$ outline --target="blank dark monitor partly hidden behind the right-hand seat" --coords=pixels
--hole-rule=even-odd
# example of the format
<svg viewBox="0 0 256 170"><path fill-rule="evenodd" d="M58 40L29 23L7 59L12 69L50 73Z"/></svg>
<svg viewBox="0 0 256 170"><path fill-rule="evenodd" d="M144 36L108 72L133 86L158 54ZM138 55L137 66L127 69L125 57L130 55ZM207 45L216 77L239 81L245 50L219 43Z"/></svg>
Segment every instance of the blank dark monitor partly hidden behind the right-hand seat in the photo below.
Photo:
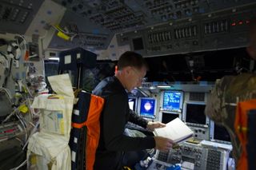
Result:
<svg viewBox="0 0 256 170"><path fill-rule="evenodd" d="M227 132L224 126L214 123L214 140L230 142L230 133Z"/></svg>

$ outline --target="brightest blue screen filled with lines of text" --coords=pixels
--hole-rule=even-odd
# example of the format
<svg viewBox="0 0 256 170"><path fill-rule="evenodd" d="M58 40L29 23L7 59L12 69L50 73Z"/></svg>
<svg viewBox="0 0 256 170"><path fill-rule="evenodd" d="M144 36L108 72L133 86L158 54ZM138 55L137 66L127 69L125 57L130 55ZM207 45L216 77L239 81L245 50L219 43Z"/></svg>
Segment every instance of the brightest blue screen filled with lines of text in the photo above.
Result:
<svg viewBox="0 0 256 170"><path fill-rule="evenodd" d="M162 109L173 111L173 112L182 112L181 110L181 101L182 93L181 92L164 92Z"/></svg>

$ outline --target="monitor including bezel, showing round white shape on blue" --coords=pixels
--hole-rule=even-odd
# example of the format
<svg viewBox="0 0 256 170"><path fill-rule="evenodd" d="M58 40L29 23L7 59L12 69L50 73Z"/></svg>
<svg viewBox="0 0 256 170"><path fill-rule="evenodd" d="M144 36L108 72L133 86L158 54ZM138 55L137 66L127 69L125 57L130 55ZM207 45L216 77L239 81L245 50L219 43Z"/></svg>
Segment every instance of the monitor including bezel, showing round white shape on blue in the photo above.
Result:
<svg viewBox="0 0 256 170"><path fill-rule="evenodd" d="M138 113L141 117L155 118L157 104L155 98L142 97L138 102Z"/></svg>

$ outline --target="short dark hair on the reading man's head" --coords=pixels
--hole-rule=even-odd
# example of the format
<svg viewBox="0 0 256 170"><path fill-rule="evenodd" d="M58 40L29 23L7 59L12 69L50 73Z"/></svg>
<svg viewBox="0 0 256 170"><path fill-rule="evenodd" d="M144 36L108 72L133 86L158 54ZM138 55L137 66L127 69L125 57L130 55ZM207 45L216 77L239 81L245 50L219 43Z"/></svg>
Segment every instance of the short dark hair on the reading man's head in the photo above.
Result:
<svg viewBox="0 0 256 170"><path fill-rule="evenodd" d="M126 51L119 57L118 69L121 70L127 66L132 66L137 69L142 69L142 67L148 69L146 60L142 57L142 55L133 51Z"/></svg>

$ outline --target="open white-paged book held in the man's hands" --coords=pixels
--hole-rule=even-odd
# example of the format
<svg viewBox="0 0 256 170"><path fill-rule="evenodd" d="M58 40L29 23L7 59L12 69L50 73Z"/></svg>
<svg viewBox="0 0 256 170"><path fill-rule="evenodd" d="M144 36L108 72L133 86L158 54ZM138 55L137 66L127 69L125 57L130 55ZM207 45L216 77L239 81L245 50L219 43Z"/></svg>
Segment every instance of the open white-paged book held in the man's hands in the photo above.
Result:
<svg viewBox="0 0 256 170"><path fill-rule="evenodd" d="M169 138L174 143L179 143L193 136L193 131L179 118L166 124L164 128L155 128L154 136Z"/></svg>

